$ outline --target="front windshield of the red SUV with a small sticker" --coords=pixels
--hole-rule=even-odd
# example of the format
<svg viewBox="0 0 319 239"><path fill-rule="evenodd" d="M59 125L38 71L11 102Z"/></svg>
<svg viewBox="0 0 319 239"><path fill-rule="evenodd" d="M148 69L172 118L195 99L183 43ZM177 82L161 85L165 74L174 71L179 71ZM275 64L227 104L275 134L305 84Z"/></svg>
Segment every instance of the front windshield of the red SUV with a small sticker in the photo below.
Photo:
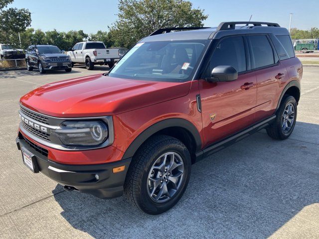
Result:
<svg viewBox="0 0 319 239"><path fill-rule="evenodd" d="M111 77L184 82L191 79L209 40L136 44L113 67Z"/></svg>

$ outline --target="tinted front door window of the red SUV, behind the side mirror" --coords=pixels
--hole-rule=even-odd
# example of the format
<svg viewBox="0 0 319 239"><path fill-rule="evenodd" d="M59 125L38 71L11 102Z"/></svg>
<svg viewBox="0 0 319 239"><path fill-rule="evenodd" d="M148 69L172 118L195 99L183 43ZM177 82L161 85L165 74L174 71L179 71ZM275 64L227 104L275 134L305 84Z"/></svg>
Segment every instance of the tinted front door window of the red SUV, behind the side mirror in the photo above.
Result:
<svg viewBox="0 0 319 239"><path fill-rule="evenodd" d="M210 60L210 69L216 66L232 66L237 72L246 71L243 37L227 37L218 43Z"/></svg>

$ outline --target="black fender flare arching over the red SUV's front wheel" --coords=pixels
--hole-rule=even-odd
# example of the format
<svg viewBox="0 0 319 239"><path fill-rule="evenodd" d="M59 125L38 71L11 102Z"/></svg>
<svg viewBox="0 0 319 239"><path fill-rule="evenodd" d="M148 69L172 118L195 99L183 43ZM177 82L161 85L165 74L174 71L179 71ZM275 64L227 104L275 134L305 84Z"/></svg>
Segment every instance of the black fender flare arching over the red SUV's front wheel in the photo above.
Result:
<svg viewBox="0 0 319 239"><path fill-rule="evenodd" d="M194 124L192 124L190 121L186 119L181 118L173 118L173 119L164 119L161 120L147 129L145 129L142 133L140 133L130 144L130 146L125 151L122 159L133 157L136 151L139 149L139 147L153 134L156 132L168 128L168 127L181 127L186 129L194 138L196 143L196 152L200 150L201 148L201 138L200 134L195 127Z"/></svg>

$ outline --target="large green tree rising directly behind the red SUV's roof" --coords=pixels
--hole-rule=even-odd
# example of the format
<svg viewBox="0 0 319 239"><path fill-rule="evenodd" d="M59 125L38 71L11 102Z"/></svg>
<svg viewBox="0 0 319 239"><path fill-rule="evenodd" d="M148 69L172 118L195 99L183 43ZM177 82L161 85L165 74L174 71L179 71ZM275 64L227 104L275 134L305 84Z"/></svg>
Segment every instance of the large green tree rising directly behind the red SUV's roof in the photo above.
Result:
<svg viewBox="0 0 319 239"><path fill-rule="evenodd" d="M159 28L203 26L206 18L186 0L120 0L109 34L115 46L129 48Z"/></svg>

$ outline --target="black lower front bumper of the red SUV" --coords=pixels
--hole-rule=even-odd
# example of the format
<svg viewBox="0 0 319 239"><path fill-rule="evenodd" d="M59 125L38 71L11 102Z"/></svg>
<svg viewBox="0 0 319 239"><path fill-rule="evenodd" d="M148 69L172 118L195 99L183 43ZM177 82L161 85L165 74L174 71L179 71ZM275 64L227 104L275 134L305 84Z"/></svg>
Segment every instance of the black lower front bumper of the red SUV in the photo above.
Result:
<svg viewBox="0 0 319 239"><path fill-rule="evenodd" d="M34 154L38 170L47 177L65 186L65 189L75 189L92 194L103 199L123 195L125 177L131 163L131 158L105 164L70 165L53 162L45 156L45 151L20 133L16 138L20 150L22 147ZM113 173L113 168L125 165L125 170ZM99 179L96 179L98 175Z"/></svg>

